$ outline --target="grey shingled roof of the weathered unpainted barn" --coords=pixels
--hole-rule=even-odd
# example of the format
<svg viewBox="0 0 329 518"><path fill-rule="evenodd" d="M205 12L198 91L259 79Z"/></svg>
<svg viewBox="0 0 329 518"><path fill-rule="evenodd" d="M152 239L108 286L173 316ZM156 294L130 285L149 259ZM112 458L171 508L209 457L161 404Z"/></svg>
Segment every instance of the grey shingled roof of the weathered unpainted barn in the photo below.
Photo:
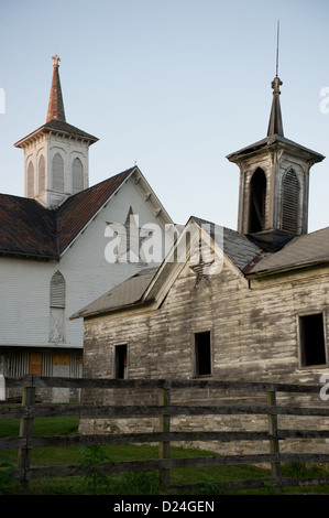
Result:
<svg viewBox="0 0 329 518"><path fill-rule="evenodd" d="M221 239L222 236L221 242L217 244L245 277L329 262L329 227L296 237L279 251L267 252L241 233L226 227L222 233L216 233L216 225L210 222L197 217L191 217L190 220L204 229L209 225L209 234L215 239L218 236ZM158 268L145 268L83 307L72 319L122 311L145 303L143 296L157 271Z"/></svg>

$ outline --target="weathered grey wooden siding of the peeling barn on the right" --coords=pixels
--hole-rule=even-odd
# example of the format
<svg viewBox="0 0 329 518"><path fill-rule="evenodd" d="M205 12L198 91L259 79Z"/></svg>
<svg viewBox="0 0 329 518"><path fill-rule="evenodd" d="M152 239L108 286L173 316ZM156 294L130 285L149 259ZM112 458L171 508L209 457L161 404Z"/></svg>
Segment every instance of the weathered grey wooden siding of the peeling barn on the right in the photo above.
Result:
<svg viewBox="0 0 329 518"><path fill-rule="evenodd" d="M318 384L323 368L299 366L297 321L299 314L323 312L328 335L328 289L327 269L294 273L262 281L249 282L226 261L218 276L210 276L208 283L196 277L186 266L172 285L158 309L144 309L108 314L85 321L86 377L113 377L113 348L128 345L128 376L130 378L179 378L194 376L193 334L211 331L212 376L216 379L309 382ZM120 403L122 400L145 404L156 402L157 395L145 393L138 398L132 393L94 392L86 395L86 401ZM250 402L251 395L226 393L224 401L239 398ZM254 397L254 396L253 396ZM281 397L283 402L295 402L294 397ZM173 402L194 404L216 403L218 393L196 391L177 392ZM259 401L265 403L265 400ZM300 399L297 404L301 404ZM315 396L314 404L319 404ZM198 418L175 419L173 427L193 430L253 429L260 423L253 419L242 422L239 417L200 420ZM327 425L322 420L322 425ZM157 421L145 425L157 425ZM85 423L86 425L86 423ZM141 423L107 420L102 425L108 431L138 430ZM266 429L264 419L261 425ZM300 428L312 428L304 420ZM135 427L135 428L134 428ZM81 425L81 430L84 424ZM295 441L296 442L296 441ZM286 445L288 442L286 442ZM300 444L295 444L300 450ZM207 444L207 447L211 447ZM217 447L217 446L212 446ZM229 451L231 445L221 445ZM267 446L264 446L265 451ZM239 451L248 451L239 445ZM262 450L262 445L260 445Z"/></svg>

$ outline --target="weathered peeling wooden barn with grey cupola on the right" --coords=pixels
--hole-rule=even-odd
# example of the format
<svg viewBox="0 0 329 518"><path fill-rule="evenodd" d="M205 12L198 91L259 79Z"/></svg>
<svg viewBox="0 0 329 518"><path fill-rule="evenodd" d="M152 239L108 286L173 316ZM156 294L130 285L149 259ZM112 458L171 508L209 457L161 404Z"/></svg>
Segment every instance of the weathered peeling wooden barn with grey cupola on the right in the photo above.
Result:
<svg viewBox="0 0 329 518"><path fill-rule="evenodd" d="M238 230L191 217L160 268L73 315L85 322L86 377L319 382L329 367L329 227L308 234L307 217L309 171L323 157L284 137L281 85L275 77L266 137L228 155L240 168Z"/></svg>

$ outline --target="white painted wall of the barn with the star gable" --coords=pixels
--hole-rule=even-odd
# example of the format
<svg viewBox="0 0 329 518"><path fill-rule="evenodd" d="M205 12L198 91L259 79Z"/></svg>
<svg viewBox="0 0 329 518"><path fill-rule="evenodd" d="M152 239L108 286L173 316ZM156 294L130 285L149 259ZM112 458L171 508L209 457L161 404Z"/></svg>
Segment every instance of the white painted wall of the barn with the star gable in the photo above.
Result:
<svg viewBox="0 0 329 518"><path fill-rule="evenodd" d="M0 346L56 346L50 342L50 285L59 270L66 281L66 339L58 347L83 347L83 320L69 321L69 316L142 268L136 263L110 265L105 257L110 240L105 236L107 223L124 224L130 207L139 215L140 225L164 227L134 180L129 179L59 262L0 258Z"/></svg>

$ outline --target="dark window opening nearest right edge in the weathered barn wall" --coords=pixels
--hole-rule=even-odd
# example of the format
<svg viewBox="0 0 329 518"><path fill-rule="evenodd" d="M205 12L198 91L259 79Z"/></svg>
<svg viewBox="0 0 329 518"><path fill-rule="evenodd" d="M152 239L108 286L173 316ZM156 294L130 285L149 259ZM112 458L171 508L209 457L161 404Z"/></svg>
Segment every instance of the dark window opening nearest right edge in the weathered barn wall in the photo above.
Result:
<svg viewBox="0 0 329 518"><path fill-rule="evenodd" d="M326 365L323 315L318 313L299 317L301 366Z"/></svg>

